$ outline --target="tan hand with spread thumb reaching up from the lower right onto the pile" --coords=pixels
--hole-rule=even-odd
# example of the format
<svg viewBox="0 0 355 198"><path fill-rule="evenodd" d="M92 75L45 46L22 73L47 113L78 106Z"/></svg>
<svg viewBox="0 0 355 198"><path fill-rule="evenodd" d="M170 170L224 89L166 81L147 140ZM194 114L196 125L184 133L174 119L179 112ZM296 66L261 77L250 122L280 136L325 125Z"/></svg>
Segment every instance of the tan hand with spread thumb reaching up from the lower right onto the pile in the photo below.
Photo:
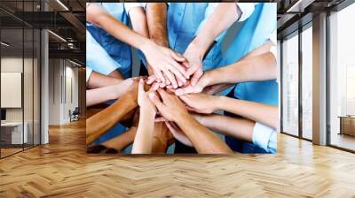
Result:
<svg viewBox="0 0 355 198"><path fill-rule="evenodd" d="M158 93L159 95L156 92L150 93L149 98L164 118L177 122L180 118L190 116L185 108L185 104L178 99L177 95L168 93L163 89L158 89ZM159 96L162 98L162 101Z"/></svg>

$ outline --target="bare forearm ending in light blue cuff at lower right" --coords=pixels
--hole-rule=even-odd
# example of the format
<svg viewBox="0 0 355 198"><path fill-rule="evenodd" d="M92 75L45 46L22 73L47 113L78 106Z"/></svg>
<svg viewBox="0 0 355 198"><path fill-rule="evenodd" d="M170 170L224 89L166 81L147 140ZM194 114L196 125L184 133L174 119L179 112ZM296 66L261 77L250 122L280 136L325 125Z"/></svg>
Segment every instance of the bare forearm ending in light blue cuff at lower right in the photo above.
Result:
<svg viewBox="0 0 355 198"><path fill-rule="evenodd" d="M255 122L246 118L232 118L220 114L199 115L199 122L210 129L243 141L253 141Z"/></svg>

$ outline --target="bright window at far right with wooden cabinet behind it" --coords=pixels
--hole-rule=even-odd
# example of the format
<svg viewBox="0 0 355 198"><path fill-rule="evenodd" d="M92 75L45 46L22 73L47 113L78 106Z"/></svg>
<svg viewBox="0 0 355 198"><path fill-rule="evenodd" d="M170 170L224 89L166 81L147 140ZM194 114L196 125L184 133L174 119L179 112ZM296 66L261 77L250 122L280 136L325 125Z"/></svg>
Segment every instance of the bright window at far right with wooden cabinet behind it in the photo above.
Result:
<svg viewBox="0 0 355 198"><path fill-rule="evenodd" d="M329 16L329 142L355 150L355 4Z"/></svg>

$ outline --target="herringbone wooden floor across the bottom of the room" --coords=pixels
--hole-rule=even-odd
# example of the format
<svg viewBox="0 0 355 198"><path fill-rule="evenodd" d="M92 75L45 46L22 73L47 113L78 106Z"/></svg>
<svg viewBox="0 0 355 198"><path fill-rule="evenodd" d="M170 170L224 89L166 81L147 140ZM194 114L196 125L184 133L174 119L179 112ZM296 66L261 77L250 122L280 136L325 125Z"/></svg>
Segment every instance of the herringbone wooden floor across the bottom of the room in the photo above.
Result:
<svg viewBox="0 0 355 198"><path fill-rule="evenodd" d="M355 197L355 155L279 136L277 155L87 155L83 122L0 160L0 197Z"/></svg>

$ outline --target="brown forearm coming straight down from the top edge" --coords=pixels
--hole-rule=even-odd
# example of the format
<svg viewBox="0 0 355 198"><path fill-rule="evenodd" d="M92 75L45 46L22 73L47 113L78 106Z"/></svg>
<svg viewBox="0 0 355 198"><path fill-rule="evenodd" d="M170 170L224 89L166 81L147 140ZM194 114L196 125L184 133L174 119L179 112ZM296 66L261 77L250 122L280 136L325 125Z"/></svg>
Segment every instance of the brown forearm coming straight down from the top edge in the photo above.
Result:
<svg viewBox="0 0 355 198"><path fill-rule="evenodd" d="M169 47L167 33L167 4L146 4L146 21L148 24L150 39L158 45Z"/></svg>

